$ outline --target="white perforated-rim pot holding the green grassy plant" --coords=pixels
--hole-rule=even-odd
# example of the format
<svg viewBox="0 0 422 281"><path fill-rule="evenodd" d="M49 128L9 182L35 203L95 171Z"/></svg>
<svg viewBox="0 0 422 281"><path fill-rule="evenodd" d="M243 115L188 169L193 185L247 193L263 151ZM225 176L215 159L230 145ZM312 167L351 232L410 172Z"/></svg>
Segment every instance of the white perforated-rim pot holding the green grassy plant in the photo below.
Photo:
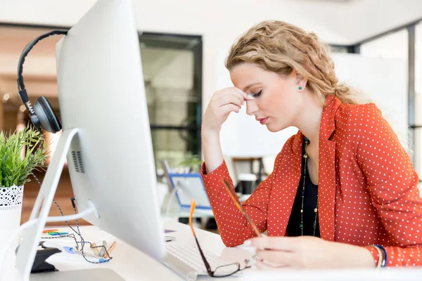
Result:
<svg viewBox="0 0 422 281"><path fill-rule="evenodd" d="M23 186L0 187L0 253L8 247L7 242L20 226L22 214ZM15 251L18 237L8 247L8 251Z"/></svg>

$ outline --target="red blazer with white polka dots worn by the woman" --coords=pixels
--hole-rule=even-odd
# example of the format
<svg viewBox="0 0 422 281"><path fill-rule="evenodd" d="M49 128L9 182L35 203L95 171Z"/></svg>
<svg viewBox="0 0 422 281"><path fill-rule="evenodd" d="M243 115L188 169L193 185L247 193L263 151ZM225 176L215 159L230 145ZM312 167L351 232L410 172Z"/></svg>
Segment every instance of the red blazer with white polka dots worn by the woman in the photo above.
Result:
<svg viewBox="0 0 422 281"><path fill-rule="evenodd" d="M286 235L300 181L303 135L290 137L271 175L243 203L261 232ZM376 105L343 104L328 96L319 131L321 238L357 246L381 244L388 266L422 266L422 199L407 152ZM225 162L205 174L205 190L227 247L255 233L222 185L231 182ZM374 259L377 253L367 247Z"/></svg>

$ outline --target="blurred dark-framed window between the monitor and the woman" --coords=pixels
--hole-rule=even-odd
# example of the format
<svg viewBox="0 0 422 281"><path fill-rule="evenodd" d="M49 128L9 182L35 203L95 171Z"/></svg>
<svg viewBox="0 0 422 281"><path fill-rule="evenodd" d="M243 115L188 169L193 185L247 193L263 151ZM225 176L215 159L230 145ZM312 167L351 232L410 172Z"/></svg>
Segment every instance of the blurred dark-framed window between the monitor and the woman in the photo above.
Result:
<svg viewBox="0 0 422 281"><path fill-rule="evenodd" d="M200 157L202 39L143 33L139 37L155 166Z"/></svg>

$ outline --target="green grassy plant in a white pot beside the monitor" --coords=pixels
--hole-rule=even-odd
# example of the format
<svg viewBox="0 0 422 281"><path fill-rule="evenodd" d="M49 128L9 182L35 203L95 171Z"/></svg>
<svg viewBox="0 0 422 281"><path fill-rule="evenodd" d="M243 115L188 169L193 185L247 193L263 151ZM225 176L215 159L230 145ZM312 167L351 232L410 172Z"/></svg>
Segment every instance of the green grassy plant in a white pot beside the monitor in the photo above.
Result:
<svg viewBox="0 0 422 281"><path fill-rule="evenodd" d="M8 135L0 133L0 241L4 247L20 226L23 186L32 171L44 168L48 157L41 141L41 133L29 126Z"/></svg>

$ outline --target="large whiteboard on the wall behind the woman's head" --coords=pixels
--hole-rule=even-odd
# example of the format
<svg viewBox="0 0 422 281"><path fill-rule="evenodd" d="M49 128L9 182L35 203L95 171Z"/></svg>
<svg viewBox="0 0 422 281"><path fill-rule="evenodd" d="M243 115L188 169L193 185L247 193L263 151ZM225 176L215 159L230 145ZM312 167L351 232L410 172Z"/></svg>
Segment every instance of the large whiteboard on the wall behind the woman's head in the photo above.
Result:
<svg viewBox="0 0 422 281"><path fill-rule="evenodd" d="M226 53L217 55L216 91L233 84L224 67ZM407 63L401 59L366 58L349 53L333 53L335 71L340 81L362 89L383 111L396 133L407 136ZM284 143L297 133L289 127L272 133L255 117L246 114L245 106L239 113L232 112L224 122L220 141L224 156L275 156Z"/></svg>

